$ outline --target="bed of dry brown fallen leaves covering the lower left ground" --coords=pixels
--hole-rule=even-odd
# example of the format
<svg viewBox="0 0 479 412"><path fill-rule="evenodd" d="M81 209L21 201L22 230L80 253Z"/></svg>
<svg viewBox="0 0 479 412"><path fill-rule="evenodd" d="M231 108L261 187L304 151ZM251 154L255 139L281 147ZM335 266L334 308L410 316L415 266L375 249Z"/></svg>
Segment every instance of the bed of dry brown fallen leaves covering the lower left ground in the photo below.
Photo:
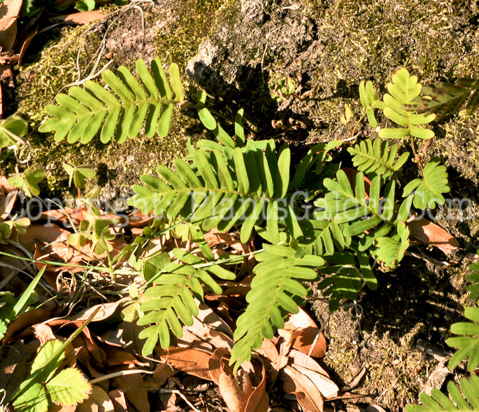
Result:
<svg viewBox="0 0 479 412"><path fill-rule="evenodd" d="M0 180L0 193L1 196L14 193L6 179ZM16 194L12 198L8 207L13 209ZM0 219L5 220L12 209L5 209ZM106 240L101 253L97 253L92 239L73 245L69 242L69 236L83 222L95 218L116 220L123 226L108 227L112 237ZM157 345L153 355L142 357L145 339L138 335L143 327L133 321L134 313L139 310L138 298L142 297L138 294L141 282L137 283L140 280L136 278L135 259L125 259L121 254L151 224L153 218L138 211L123 218L101 211L99 216L93 216L87 207L80 205L43 213L23 233L14 229L12 239L16 242L10 248L12 255L34 257L37 269L46 266L43 281L44 287L49 286L51 298L41 309L17 317L9 325L3 344L19 346L32 357L45 342L64 341L97 311L92 322L71 342L66 354L69 367L79 368L92 381L92 393L76 408L49 410L207 411L226 405L232 412L267 412L271 402L280 402L291 411L322 412L328 400L361 396L349 392L357 383L340 389L319 363L327 350L326 339L304 309L289 316L278 336L272 341L265 340L251 361L245 361L238 374L233 374L229 360L234 324L244 310L250 289L254 245L242 244L234 235L215 229L205 235L214 256L232 253L245 256L238 271L247 276L239 283L224 281L221 295L208 292L204 303L196 301L199 313L193 317L191 326L182 327L182 338L174 338L166 350ZM128 238L125 228L130 231ZM437 234L434 229L428 233L423 240L427 244L434 244L435 236L438 243L451 244L450 235ZM183 234L162 235L138 246L137 258L173 248L194 250L201 256L199 245ZM16 268L17 276L22 271L23 267ZM116 281L112 274L117 275ZM5 370L0 372L0 382L8 391L12 391L10 383L27 377L28 370L24 360L12 357L12 362L9 367L0 364L11 371L9 376L4 374Z"/></svg>

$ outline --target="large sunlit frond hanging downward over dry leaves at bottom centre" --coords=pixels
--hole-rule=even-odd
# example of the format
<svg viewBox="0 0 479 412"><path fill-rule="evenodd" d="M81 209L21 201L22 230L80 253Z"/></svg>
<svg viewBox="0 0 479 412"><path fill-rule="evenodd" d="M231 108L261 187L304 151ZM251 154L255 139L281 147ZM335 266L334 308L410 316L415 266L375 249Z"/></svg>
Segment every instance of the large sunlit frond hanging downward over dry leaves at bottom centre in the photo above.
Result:
<svg viewBox="0 0 479 412"><path fill-rule="evenodd" d="M230 360L235 370L251 358L251 352L261 346L263 339L272 339L276 329L284 327L286 313L299 311L298 299L308 294L301 281L314 281L315 268L324 264L319 256L272 245L265 245L265 251L256 255L256 260L256 276L246 296L248 306L236 321L236 343Z"/></svg>

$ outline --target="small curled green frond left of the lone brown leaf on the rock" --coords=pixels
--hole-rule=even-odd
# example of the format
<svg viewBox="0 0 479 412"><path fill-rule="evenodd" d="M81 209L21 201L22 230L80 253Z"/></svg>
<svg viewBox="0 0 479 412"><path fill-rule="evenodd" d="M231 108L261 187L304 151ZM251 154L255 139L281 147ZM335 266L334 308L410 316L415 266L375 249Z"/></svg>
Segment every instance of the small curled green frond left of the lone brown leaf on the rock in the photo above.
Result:
<svg viewBox="0 0 479 412"><path fill-rule="evenodd" d="M387 268L395 269L409 247L409 229L404 222L397 224L397 233L378 237L374 242L371 255L384 263Z"/></svg>

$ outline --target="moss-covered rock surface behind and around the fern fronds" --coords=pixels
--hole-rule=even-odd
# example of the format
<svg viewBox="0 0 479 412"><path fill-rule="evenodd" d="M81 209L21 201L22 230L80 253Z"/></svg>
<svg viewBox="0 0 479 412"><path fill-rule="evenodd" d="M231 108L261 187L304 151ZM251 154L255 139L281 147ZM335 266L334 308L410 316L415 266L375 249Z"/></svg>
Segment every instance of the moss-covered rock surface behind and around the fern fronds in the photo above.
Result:
<svg viewBox="0 0 479 412"><path fill-rule="evenodd" d="M87 64L97 56L103 36L98 68L110 57L113 68L133 68L139 57L177 62L188 74L185 86L204 88L215 110L228 118L244 107L248 126L258 136L291 142L297 155L312 143L351 135L351 127L339 118L345 103L358 118L358 83L363 79L373 81L382 93L402 66L425 85L477 77L479 68L476 1L177 0L141 8L144 30L140 12L132 9L119 21L55 29L36 40L17 77L18 110L29 118L32 130L45 118L44 107L56 92L77 80L79 47L79 66L90 70ZM270 86L285 78L294 81L295 94L278 98ZM64 194L67 177L61 162L89 159L101 170L97 183L103 197L119 198L130 192L140 174L186 154L187 136L203 133L197 120L175 119L167 140L138 136L123 145L52 146L51 136L33 133L31 162L47 169L46 190ZM356 131L359 138L375 136L366 123ZM424 160L438 156L450 175L450 196L471 201L466 220L454 207L442 215L451 212L452 219L438 220L458 239L460 251L445 256L432 248L423 250L423 259L406 257L396 272L378 272L380 287L366 291L356 307L330 315L321 300L309 305L326 328L328 370L347 384L365 366L357 390L368 397L359 402L378 403L390 411L417 402L438 365L419 350L418 342L447 351L450 324L460 320L465 305L467 266L479 246L479 112L461 112L435 124L434 131L437 138ZM417 170L402 173L410 177Z"/></svg>

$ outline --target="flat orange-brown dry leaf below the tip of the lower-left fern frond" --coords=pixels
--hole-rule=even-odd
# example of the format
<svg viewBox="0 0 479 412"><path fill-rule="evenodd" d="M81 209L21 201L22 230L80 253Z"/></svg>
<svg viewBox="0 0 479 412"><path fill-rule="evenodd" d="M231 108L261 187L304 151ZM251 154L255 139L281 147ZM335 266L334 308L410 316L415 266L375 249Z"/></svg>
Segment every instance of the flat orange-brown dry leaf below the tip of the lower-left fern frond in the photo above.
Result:
<svg viewBox="0 0 479 412"><path fill-rule="evenodd" d="M167 350L160 346L155 347L156 353L173 368L179 369L186 374L197 376L198 378L211 381L208 373L209 361L211 357L210 352L190 348L174 348L170 347Z"/></svg>

